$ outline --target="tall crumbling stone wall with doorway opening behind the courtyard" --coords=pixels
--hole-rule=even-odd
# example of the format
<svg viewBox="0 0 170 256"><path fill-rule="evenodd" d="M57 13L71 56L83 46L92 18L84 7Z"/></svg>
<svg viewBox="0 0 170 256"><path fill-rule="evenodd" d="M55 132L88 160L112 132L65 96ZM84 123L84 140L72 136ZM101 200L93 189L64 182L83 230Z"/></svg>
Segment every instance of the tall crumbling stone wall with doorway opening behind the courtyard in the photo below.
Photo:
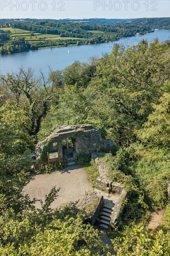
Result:
<svg viewBox="0 0 170 256"><path fill-rule="evenodd" d="M103 139L98 129L94 128L90 124L72 125L72 126L60 126L54 130L51 135L47 136L44 141L39 142L36 148L36 158L39 159L46 142L53 138L53 142L58 145L58 152L60 159L63 159L63 140L72 140L72 155L76 156L79 153L91 154L96 152L97 149L101 149L103 152L109 152L113 145L113 141ZM50 152L49 152L50 153Z"/></svg>

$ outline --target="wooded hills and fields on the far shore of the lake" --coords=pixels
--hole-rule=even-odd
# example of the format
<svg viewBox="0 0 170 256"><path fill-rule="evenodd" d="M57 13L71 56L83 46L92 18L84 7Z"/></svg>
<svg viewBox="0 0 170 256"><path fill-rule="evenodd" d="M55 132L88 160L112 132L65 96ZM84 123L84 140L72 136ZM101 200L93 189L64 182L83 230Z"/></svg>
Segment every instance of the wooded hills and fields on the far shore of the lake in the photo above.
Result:
<svg viewBox="0 0 170 256"><path fill-rule="evenodd" d="M96 20L96 23L95 23ZM100 23L99 23L100 20ZM61 22L62 21L62 22ZM107 21L107 22L105 22ZM109 22L110 21L110 22ZM170 29L169 18L102 20L93 22L76 20L1 20L0 21L0 54L11 54L40 47L66 46L76 44L94 44L118 40L138 34L154 32L154 29ZM105 22L105 23L104 23ZM3 31L3 28L6 28ZM7 30L9 28L9 30ZM23 33L11 33L10 28L22 29ZM31 38L28 38L28 34ZM5 37L6 34L6 37ZM11 34L10 41L9 37ZM37 34L42 37L37 38ZM44 37L43 37L44 35ZM53 35L49 38L48 35ZM19 47L19 40L23 40ZM56 38L58 36L59 38ZM16 47L17 45L17 47Z"/></svg>

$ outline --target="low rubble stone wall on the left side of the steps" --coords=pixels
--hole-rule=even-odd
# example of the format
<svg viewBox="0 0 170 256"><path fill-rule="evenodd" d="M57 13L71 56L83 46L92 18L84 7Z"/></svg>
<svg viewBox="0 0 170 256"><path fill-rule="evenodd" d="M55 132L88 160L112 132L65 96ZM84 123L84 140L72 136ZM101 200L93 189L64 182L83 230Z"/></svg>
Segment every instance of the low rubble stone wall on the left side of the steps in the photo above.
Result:
<svg viewBox="0 0 170 256"><path fill-rule="evenodd" d="M95 225L96 220L104 204L103 195L98 195L95 191L89 191L80 204L80 209L85 210L87 217L84 218L84 223Z"/></svg>

